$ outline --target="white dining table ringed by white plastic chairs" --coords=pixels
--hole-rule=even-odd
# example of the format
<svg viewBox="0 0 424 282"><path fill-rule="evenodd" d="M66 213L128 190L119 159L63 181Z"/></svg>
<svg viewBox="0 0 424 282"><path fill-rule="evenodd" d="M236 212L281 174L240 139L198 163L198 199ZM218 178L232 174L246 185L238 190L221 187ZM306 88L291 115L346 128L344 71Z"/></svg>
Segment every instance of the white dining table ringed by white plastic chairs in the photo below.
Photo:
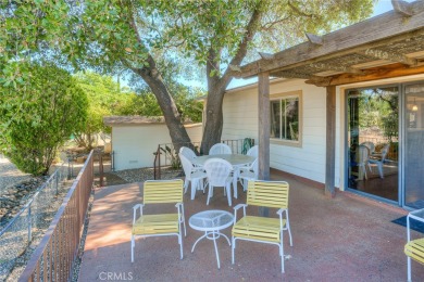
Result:
<svg viewBox="0 0 424 282"><path fill-rule="evenodd" d="M239 174L239 167L253 163L254 156L248 156L242 154L219 154L219 155L203 155L192 159L192 163L197 166L203 166L210 158L223 158L233 165L233 189L234 197L237 198L237 179Z"/></svg>

